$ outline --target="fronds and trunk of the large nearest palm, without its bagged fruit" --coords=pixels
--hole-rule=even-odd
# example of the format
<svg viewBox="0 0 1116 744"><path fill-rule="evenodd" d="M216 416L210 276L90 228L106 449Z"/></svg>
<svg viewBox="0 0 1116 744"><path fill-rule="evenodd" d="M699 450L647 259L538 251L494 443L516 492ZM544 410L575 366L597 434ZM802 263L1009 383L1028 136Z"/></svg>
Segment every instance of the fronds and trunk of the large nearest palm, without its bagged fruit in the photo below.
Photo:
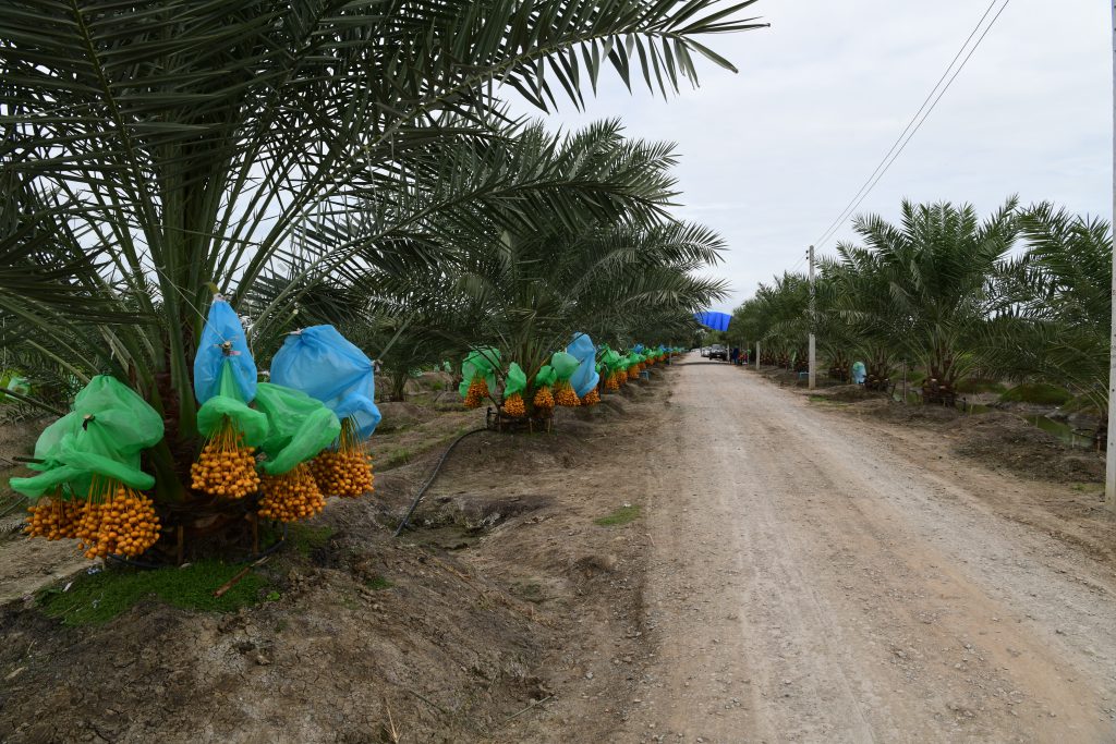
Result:
<svg viewBox="0 0 1116 744"><path fill-rule="evenodd" d="M286 277L254 319L273 331L346 267L436 265L431 215L545 191L525 173L433 177L455 145L504 136L502 86L580 104L610 67L666 94L698 57L731 68L698 39L758 28L740 17L753 2L11 0L4 325L78 379L131 380L192 442L214 292L240 306ZM307 229L354 204L377 205L374 229L310 255ZM155 462L173 471L165 447Z"/></svg>

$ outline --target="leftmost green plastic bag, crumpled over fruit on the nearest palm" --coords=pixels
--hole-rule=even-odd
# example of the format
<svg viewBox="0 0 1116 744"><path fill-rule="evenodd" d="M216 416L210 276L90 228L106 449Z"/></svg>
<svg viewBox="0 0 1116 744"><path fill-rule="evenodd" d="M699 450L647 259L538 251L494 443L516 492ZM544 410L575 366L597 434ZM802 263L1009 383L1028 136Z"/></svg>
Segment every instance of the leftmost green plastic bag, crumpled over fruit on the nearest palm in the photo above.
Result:
<svg viewBox="0 0 1116 744"><path fill-rule="evenodd" d="M84 497L94 475L133 489L155 485L140 470L140 453L163 438L163 418L135 390L98 375L77 394L74 409L44 429L35 445L39 475L11 479L11 487L39 497L65 486L65 495Z"/></svg>

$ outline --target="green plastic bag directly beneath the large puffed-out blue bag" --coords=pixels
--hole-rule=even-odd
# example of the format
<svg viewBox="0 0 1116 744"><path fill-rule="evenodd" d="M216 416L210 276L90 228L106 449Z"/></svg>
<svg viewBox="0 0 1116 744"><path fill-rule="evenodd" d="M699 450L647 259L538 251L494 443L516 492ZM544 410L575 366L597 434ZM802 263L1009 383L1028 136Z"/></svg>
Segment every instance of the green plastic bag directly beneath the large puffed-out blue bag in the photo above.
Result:
<svg viewBox="0 0 1116 744"><path fill-rule="evenodd" d="M290 387L260 383L256 407L268 419L268 435L261 445L267 460L260 463L268 475L281 475L317 456L341 433L333 410Z"/></svg>

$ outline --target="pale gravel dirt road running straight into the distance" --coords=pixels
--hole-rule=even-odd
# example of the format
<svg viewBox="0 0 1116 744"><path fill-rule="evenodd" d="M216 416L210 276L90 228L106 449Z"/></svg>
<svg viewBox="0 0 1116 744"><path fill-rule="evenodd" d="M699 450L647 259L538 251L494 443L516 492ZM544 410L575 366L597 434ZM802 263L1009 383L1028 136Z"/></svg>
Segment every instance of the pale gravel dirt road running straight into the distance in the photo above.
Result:
<svg viewBox="0 0 1116 744"><path fill-rule="evenodd" d="M657 654L618 741L1116 741L1110 569L869 429L677 371L647 453Z"/></svg>

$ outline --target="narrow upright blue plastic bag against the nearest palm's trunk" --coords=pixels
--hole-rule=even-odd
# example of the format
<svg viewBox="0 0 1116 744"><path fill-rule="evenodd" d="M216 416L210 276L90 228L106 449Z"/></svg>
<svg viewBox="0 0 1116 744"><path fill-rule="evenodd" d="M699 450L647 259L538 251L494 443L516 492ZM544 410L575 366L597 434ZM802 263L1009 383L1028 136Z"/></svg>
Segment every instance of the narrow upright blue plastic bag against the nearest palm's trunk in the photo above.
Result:
<svg viewBox="0 0 1116 744"><path fill-rule="evenodd" d="M220 297L213 298L205 329L194 357L194 397L205 403L218 394L221 370L228 359L244 403L256 398L256 360L248 350L244 327L237 311Z"/></svg>

